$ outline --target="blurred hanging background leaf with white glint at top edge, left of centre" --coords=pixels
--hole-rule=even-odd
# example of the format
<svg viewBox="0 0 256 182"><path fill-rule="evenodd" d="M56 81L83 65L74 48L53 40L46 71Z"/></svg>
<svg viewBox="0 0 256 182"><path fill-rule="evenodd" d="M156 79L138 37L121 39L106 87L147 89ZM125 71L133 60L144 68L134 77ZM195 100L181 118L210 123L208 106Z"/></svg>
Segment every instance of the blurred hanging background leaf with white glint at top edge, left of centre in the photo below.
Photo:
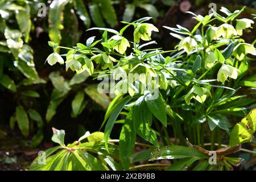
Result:
<svg viewBox="0 0 256 182"><path fill-rule="evenodd" d="M76 13L79 15L79 18L84 22L87 28L90 27L90 16L86 10L84 2L82 0L74 1Z"/></svg>

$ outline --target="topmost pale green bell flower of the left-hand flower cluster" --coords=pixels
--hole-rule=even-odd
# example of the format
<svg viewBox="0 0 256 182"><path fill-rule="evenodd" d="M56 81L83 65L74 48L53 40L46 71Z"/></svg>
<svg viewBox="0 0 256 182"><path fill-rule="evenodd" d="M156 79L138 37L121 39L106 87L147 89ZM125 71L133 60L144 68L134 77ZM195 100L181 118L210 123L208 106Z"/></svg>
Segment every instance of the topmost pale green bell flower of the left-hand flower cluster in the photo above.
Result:
<svg viewBox="0 0 256 182"><path fill-rule="evenodd" d="M135 43L139 43L139 39L142 39L145 41L151 40L152 31L158 32L158 28L156 28L151 23L138 24L138 26L135 27L134 34L133 34Z"/></svg>

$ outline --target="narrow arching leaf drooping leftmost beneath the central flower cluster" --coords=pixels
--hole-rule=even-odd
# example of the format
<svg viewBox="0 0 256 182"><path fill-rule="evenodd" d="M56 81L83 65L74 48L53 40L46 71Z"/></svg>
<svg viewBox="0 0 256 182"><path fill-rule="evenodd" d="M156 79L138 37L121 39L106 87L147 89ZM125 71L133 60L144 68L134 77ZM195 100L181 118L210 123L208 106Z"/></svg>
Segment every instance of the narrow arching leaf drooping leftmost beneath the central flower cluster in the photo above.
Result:
<svg viewBox="0 0 256 182"><path fill-rule="evenodd" d="M119 100L112 108L112 113L109 115L108 122L106 123L105 130L104 130L104 139L105 139L105 146L108 148L108 139L110 137L110 133L113 129L114 123L117 120L117 117L125 104L131 100L130 96L126 96Z"/></svg>

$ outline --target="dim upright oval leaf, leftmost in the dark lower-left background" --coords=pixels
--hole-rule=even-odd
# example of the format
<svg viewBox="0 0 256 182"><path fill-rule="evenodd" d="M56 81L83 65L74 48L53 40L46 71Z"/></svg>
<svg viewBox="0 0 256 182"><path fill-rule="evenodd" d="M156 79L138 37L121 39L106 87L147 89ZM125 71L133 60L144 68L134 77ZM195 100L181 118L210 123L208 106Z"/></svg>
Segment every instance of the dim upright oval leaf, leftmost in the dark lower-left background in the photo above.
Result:
<svg viewBox="0 0 256 182"><path fill-rule="evenodd" d="M21 105L16 106L16 119L22 134L27 137L29 133L29 121L27 113Z"/></svg>

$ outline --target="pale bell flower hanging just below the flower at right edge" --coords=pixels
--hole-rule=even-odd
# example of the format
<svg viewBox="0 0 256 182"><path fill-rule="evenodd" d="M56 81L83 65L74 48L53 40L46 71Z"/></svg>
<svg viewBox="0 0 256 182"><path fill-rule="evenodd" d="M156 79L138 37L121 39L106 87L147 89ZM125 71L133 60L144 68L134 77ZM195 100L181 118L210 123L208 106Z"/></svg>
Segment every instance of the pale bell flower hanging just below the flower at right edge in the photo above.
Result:
<svg viewBox="0 0 256 182"><path fill-rule="evenodd" d="M217 81L225 82L228 77L236 79L238 72L240 72L239 69L227 64L222 64L220 70L218 71Z"/></svg>

